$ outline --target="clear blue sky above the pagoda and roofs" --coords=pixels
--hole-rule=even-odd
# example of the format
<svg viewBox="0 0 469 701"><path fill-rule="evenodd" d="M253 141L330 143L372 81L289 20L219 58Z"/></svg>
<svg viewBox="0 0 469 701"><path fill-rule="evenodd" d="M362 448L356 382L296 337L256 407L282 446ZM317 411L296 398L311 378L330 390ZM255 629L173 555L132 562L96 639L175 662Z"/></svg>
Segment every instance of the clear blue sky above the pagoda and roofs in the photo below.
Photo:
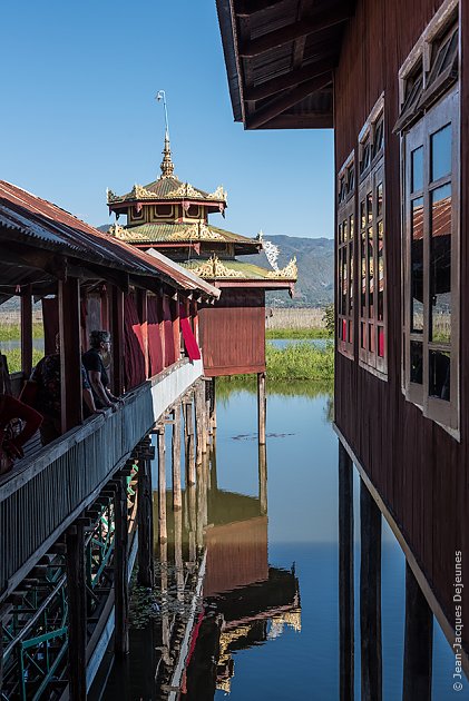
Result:
<svg viewBox="0 0 469 701"><path fill-rule="evenodd" d="M8 2L0 60L2 179L106 224L106 187L159 175L164 89L176 175L228 191L214 224L333 236L332 131L233 121L215 0Z"/></svg>

